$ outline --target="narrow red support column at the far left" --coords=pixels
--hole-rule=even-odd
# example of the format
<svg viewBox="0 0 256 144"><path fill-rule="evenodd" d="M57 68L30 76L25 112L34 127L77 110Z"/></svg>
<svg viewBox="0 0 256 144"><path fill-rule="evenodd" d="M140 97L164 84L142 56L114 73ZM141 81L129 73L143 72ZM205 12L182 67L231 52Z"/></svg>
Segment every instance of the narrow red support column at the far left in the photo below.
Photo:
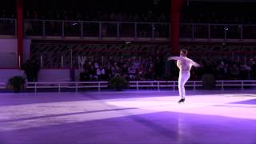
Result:
<svg viewBox="0 0 256 144"><path fill-rule="evenodd" d="M23 0L17 0L18 67L23 62Z"/></svg>

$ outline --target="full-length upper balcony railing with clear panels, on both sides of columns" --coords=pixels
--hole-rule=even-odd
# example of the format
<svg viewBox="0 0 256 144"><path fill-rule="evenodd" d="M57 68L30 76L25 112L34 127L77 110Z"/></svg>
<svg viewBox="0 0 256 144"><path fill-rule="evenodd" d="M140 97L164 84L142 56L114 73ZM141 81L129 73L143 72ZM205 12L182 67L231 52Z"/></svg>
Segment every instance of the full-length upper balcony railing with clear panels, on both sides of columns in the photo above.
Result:
<svg viewBox="0 0 256 144"><path fill-rule="evenodd" d="M164 38L170 40L168 22L101 22L68 20L24 20L26 38ZM16 36L16 20L0 18L0 35ZM181 39L208 40L253 40L256 39L256 25L182 23Z"/></svg>

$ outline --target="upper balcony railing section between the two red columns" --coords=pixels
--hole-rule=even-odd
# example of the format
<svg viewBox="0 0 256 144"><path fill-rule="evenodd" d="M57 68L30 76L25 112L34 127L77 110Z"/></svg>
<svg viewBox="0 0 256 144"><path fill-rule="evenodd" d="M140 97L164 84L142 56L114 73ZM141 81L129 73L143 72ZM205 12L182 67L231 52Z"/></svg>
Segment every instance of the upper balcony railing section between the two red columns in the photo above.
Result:
<svg viewBox="0 0 256 144"><path fill-rule="evenodd" d="M170 38L165 22L25 20L25 35L42 38Z"/></svg>

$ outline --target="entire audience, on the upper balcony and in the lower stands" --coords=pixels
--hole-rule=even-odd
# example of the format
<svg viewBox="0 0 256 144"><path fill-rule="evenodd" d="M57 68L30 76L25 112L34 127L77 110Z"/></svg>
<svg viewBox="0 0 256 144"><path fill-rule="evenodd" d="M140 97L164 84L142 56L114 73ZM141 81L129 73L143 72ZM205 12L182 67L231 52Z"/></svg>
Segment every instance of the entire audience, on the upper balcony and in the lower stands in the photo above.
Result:
<svg viewBox="0 0 256 144"><path fill-rule="evenodd" d="M32 1L31 1L32 2ZM212 5L212 6L211 6ZM237 5L237 7L235 6ZM254 10L255 4L232 4L226 3L218 6L217 4L194 3L186 4L181 12L182 23L223 23L223 24L238 24L237 26L211 26L211 38L240 38L240 32L243 31L243 38L255 38L256 26L240 26L240 24L254 24L256 17L251 10ZM98 3L96 3L98 6ZM218 9L216 9L218 6ZM226 11L226 6L229 11ZM33 6L32 6L33 7ZM40 7L40 6L39 6ZM169 7L169 6L167 6ZM204 8L198 9L198 8ZM238 8L239 7L239 11ZM242 7L242 10L240 8ZM24 10L25 19L48 19L48 20L71 20L71 21L114 21L114 22L170 22L170 10L150 10L150 8L141 8L142 10L134 12L123 12L118 10ZM11 12L13 11L13 12ZM158 11L158 13L156 12ZM192 13L193 12L193 13ZM236 13L234 13L236 12ZM1 18L15 18L14 10L0 11ZM62 33L61 22L46 22L46 35L59 35ZM65 23L65 34L79 34L80 29L77 22L71 22L70 25ZM24 23L26 34L42 34L42 23L25 21ZM95 31L98 27L88 25L90 29L84 26L86 34L98 34ZM141 29L142 27L143 29ZM94 30L95 29L95 30ZM168 37L166 26L155 26L154 36ZM116 35L115 26L102 24L102 36ZM122 30L122 27L120 28ZM134 32L133 28L126 27L125 30ZM138 36L151 36L151 27L138 26ZM208 38L206 31L207 26L194 26L195 38ZM181 38L190 38L192 26L181 25ZM150 33L149 33L150 32ZM226 33L224 33L226 32ZM8 20L0 20L0 34L15 34L15 22ZM126 34L126 33L125 33ZM134 36L133 33L127 32ZM86 36L86 35L84 35ZM91 36L91 35L89 35ZM122 36L122 35L121 35ZM191 79L200 79L203 74L214 74L217 79L254 79L256 78L256 62L252 58L250 62L238 62L230 58L214 59L209 61L209 58L198 58L197 62L202 64L202 67L191 71ZM84 65L84 71L81 74L81 80L107 80L115 74L122 74L128 80L161 80L178 77L177 67L174 62L166 62L163 56L154 55L150 58L104 58L104 62L98 58L90 58Z"/></svg>

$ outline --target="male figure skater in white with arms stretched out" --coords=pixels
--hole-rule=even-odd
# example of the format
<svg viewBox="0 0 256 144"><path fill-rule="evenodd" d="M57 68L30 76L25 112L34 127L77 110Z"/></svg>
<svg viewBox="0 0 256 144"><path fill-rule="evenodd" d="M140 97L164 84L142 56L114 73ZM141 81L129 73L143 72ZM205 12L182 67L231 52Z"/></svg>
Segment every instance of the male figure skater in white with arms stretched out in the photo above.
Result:
<svg viewBox="0 0 256 144"><path fill-rule="evenodd" d="M178 92L181 99L178 101L185 102L185 84L190 78L190 70L192 66L199 67L200 65L197 62L194 62L190 58L186 58L187 50L180 50L179 57L169 57L168 61L170 60L177 60L177 66L179 69L179 76L178 76Z"/></svg>

